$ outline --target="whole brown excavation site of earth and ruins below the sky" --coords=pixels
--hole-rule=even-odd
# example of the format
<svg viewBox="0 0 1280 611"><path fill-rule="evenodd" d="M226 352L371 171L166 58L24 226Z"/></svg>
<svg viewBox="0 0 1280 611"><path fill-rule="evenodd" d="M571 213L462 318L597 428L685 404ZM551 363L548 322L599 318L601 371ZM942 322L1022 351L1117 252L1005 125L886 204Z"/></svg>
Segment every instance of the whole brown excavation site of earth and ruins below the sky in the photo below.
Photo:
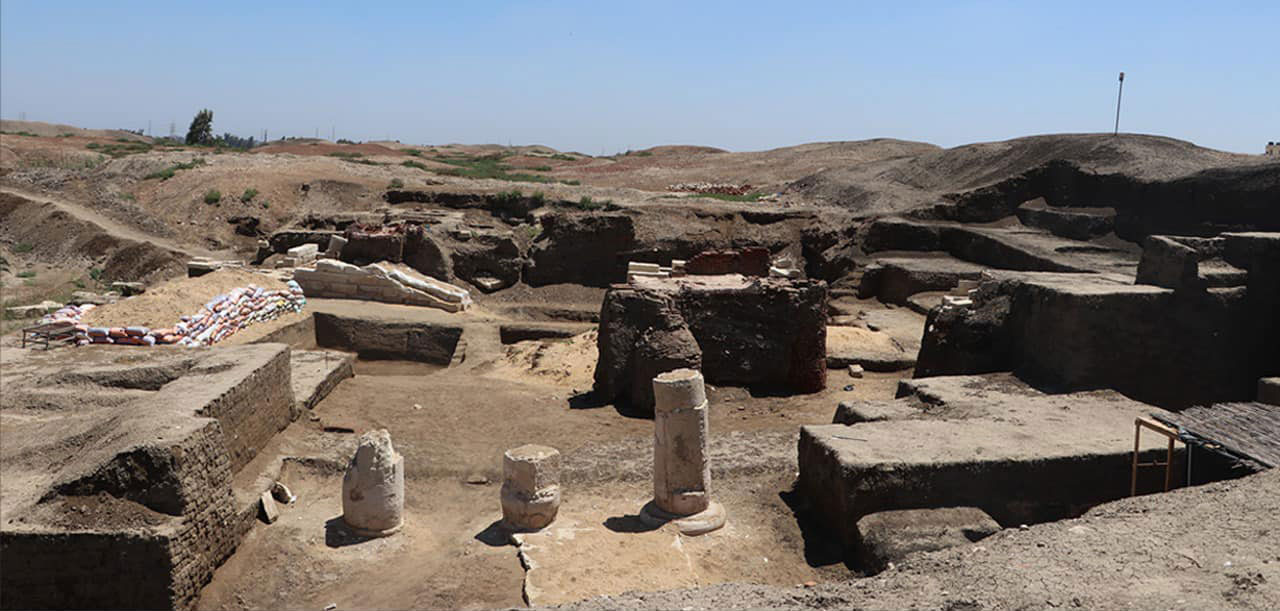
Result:
<svg viewBox="0 0 1280 611"><path fill-rule="evenodd" d="M4 608L1280 603L1275 158L5 133Z"/></svg>

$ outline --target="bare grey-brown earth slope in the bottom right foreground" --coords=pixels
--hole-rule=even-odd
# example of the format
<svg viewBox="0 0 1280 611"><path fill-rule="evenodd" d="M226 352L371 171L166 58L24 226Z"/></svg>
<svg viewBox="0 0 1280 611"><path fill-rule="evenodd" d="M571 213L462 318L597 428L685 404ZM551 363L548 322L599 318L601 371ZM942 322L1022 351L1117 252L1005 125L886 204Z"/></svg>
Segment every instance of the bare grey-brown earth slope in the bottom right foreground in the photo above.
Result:
<svg viewBox="0 0 1280 611"><path fill-rule="evenodd" d="M723 584L566 608L1280 608L1280 471L1101 505L872 579Z"/></svg>

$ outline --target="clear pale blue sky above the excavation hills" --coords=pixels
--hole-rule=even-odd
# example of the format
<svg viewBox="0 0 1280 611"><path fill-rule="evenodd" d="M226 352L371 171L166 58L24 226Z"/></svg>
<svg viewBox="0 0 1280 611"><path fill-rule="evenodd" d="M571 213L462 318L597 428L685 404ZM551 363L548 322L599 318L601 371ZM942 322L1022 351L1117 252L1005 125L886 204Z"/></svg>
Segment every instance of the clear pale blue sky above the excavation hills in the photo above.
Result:
<svg viewBox="0 0 1280 611"><path fill-rule="evenodd" d="M0 115L403 142L759 150L1280 140L1280 3L0 3Z"/></svg>

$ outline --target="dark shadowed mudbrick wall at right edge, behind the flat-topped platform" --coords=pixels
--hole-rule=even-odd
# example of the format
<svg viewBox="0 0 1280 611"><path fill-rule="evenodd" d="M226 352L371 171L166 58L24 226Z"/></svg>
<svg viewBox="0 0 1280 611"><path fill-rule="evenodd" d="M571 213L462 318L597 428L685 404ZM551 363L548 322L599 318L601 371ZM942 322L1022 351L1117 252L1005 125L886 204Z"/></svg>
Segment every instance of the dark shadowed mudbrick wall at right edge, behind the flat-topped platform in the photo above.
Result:
<svg viewBox="0 0 1280 611"><path fill-rule="evenodd" d="M1092 274L998 274L934 309L916 378L1016 371L1055 391L1115 388L1181 409L1249 401L1280 373L1280 234L1226 234L1245 287L1172 291ZM1234 245L1233 245L1234 243Z"/></svg>

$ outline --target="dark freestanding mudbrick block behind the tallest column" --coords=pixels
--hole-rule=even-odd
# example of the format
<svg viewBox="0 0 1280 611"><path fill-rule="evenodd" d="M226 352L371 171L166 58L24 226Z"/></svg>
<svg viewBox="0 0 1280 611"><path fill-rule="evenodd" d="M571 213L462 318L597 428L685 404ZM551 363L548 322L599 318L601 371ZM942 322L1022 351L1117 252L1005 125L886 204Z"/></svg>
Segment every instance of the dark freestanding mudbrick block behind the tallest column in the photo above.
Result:
<svg viewBox="0 0 1280 611"><path fill-rule="evenodd" d="M666 287L620 284L605 293L594 384L600 398L649 412L650 380L677 368L700 369L713 384L826 387L824 282L769 278L716 287L695 278Z"/></svg>

